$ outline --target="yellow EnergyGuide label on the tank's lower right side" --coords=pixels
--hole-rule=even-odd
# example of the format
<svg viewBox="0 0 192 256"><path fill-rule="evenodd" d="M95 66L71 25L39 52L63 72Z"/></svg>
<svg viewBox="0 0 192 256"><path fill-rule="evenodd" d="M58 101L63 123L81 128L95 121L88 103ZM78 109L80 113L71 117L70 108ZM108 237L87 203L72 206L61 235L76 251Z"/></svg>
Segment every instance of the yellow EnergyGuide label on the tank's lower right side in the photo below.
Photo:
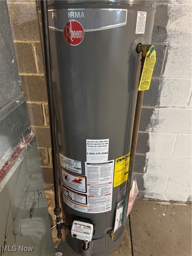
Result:
<svg viewBox="0 0 192 256"><path fill-rule="evenodd" d="M123 184L128 178L130 153L115 159L113 187Z"/></svg>

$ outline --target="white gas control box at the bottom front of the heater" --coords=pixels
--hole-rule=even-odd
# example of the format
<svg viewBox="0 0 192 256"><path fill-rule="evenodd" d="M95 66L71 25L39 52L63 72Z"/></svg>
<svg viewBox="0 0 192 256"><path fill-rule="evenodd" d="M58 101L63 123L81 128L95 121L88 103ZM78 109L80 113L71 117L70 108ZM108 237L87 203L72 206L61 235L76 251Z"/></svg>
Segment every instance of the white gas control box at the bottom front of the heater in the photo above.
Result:
<svg viewBox="0 0 192 256"><path fill-rule="evenodd" d="M93 231L94 227L92 224L77 220L73 221L71 235L75 238L83 240L82 248L84 250L90 249L93 245L93 242L91 241L93 237Z"/></svg>

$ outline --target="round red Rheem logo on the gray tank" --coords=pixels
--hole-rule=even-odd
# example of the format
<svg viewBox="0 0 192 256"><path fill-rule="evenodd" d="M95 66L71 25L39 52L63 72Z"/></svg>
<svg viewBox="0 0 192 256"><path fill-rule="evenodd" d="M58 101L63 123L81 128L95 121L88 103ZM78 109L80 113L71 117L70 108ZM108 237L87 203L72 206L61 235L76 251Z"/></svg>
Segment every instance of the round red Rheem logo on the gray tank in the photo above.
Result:
<svg viewBox="0 0 192 256"><path fill-rule="evenodd" d="M63 29L64 38L70 45L78 45L83 41L84 29L76 20L70 20Z"/></svg>

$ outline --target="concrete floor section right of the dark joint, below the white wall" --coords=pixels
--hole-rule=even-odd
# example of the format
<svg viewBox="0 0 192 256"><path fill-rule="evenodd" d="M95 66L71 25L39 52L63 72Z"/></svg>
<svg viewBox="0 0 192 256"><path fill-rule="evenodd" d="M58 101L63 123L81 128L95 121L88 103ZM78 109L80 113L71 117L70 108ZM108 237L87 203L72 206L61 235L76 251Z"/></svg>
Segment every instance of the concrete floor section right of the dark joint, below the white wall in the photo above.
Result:
<svg viewBox="0 0 192 256"><path fill-rule="evenodd" d="M191 256L191 204L136 200L130 221L134 256Z"/></svg>

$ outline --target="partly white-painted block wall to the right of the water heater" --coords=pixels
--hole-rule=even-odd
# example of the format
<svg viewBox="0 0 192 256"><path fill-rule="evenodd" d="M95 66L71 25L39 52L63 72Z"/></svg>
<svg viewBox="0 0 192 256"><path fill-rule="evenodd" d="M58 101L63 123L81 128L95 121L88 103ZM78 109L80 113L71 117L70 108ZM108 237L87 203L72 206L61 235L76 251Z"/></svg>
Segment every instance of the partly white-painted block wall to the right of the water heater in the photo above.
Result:
<svg viewBox="0 0 192 256"><path fill-rule="evenodd" d="M158 1L157 61L144 92L134 171L140 198L191 202L191 1Z"/></svg>

